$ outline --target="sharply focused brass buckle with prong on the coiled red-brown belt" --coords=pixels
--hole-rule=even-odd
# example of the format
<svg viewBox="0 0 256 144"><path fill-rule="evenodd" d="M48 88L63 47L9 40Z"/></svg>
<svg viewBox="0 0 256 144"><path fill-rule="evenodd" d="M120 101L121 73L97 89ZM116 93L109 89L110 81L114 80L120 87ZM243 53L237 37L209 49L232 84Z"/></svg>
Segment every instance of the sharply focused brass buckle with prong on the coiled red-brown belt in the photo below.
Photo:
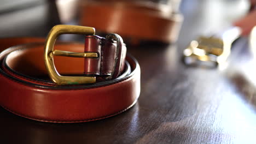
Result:
<svg viewBox="0 0 256 144"><path fill-rule="evenodd" d="M53 56L66 56L66 57L83 57L83 58L97 58L98 54L95 52L69 52L54 50L56 38L61 34L95 34L95 28L72 26L72 25L57 25L54 26L49 32L45 46L44 46L44 62L48 70L50 79L57 85L79 85L84 83L95 83L96 77L94 76L61 76L54 65Z"/></svg>

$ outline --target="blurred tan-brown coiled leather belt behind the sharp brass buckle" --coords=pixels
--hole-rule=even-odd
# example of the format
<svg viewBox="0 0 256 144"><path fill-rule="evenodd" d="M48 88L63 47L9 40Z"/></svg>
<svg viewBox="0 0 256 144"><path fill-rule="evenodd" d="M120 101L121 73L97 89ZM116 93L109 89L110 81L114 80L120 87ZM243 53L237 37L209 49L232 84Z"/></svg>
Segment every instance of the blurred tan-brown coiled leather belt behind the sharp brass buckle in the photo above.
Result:
<svg viewBox="0 0 256 144"><path fill-rule="evenodd" d="M174 6L173 6L174 7ZM176 5L177 7L177 5ZM118 33L133 41L173 43L183 16L170 4L146 1L80 1L80 25Z"/></svg>

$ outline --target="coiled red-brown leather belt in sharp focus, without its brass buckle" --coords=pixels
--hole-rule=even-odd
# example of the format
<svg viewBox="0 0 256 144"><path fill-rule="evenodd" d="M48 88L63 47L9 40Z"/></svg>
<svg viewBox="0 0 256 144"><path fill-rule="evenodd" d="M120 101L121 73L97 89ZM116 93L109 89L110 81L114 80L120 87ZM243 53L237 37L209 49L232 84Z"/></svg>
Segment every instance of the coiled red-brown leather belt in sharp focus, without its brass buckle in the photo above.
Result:
<svg viewBox="0 0 256 144"><path fill-rule="evenodd" d="M4 109L37 121L74 123L114 116L136 103L140 68L135 58L125 58L126 47L121 41L120 51L117 41L96 35L86 36L85 45L55 44L57 50L98 54L97 58L54 56L54 65L61 75L96 77L95 83L78 85L58 85L49 79L44 43L40 41L43 40L0 39L0 50L16 45L0 54L0 104Z"/></svg>

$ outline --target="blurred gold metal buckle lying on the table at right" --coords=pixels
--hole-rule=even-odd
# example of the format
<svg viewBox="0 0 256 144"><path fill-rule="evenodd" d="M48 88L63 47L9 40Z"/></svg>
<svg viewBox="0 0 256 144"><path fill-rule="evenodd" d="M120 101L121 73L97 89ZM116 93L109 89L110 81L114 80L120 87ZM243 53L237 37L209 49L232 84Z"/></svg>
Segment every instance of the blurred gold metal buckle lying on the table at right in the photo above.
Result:
<svg viewBox="0 0 256 144"><path fill-rule="evenodd" d="M225 31L220 38L199 37L191 41L183 51L184 57L190 57L203 62L214 62L216 65L226 61L230 55L231 45L241 34L241 29L232 27Z"/></svg>

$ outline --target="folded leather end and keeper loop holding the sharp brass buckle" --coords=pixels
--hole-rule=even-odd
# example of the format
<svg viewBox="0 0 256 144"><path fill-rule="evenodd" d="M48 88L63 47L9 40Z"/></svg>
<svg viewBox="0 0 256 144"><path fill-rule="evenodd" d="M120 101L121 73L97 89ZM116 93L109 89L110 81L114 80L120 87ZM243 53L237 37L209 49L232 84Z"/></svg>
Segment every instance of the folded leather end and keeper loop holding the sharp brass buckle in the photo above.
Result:
<svg viewBox="0 0 256 144"><path fill-rule="evenodd" d="M117 45L119 45L120 49L118 53L116 53ZM115 78L120 74L120 71L124 70L126 46L123 41L121 41L120 44L113 44L105 38L88 35L85 38L84 52L100 53L99 58L85 58L84 74L86 75L109 76L114 71L117 71L117 74L113 76L113 78ZM116 59L115 56L118 58ZM115 61L118 61L116 65Z"/></svg>

